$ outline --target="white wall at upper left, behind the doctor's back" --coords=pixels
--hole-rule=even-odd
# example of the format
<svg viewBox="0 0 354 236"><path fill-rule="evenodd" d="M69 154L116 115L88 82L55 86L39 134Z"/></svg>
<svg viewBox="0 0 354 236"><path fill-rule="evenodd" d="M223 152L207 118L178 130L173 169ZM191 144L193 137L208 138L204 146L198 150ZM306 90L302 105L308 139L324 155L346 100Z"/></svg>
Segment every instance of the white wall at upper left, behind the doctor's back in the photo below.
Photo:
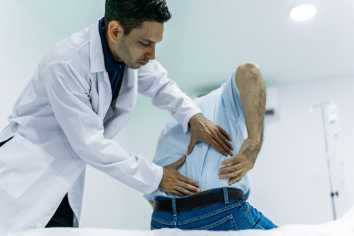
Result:
<svg viewBox="0 0 354 236"><path fill-rule="evenodd" d="M59 40L17 1L0 1L0 126L45 52Z"/></svg>

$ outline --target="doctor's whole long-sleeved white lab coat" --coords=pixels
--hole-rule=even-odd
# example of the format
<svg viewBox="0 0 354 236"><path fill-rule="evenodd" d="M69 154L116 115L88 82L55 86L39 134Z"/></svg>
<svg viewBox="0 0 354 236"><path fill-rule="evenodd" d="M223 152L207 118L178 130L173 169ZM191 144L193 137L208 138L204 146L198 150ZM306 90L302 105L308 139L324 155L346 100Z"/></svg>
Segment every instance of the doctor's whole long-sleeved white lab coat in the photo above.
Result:
<svg viewBox="0 0 354 236"><path fill-rule="evenodd" d="M0 235L44 227L68 191L80 219L86 164L144 194L159 186L160 166L111 140L129 121L137 93L170 111L185 131L200 112L157 61L126 66L111 104L98 21L42 58L0 133L0 141L14 136L0 148Z"/></svg>

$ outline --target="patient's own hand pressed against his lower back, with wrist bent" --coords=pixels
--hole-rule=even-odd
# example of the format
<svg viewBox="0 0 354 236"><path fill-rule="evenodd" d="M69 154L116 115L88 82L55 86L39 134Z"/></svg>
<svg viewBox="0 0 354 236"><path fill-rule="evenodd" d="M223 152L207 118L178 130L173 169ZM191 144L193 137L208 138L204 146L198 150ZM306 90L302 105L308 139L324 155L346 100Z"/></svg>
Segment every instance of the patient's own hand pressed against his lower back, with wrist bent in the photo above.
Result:
<svg viewBox="0 0 354 236"><path fill-rule="evenodd" d="M255 165L256 158L259 150L261 149L261 146L262 140L249 138L245 139L241 145L239 154L221 162L222 166L228 164L230 164L230 166L219 168L219 173L222 173L220 174L219 178L231 178L229 185L239 181L243 175L246 175L246 173L248 173L248 171L250 171Z"/></svg>

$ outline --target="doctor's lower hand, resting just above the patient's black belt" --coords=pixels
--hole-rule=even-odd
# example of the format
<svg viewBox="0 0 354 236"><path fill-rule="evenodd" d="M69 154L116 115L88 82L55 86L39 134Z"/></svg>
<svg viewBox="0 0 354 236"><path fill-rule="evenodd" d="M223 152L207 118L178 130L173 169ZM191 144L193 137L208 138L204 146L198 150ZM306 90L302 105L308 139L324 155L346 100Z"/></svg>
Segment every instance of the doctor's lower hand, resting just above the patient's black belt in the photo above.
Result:
<svg viewBox="0 0 354 236"><path fill-rule="evenodd" d="M163 166L162 180L159 189L177 196L191 195L193 192L200 192L199 184L190 178L181 175L177 168L186 162L186 155L183 155L177 162Z"/></svg>

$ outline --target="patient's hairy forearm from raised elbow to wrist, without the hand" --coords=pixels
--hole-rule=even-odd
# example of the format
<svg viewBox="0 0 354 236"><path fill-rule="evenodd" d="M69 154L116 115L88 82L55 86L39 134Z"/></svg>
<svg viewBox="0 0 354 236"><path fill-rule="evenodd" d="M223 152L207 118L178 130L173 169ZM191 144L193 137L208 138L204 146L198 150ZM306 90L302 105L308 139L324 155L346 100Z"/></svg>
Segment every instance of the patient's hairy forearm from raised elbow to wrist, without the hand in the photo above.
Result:
<svg viewBox="0 0 354 236"><path fill-rule="evenodd" d="M256 149L259 152L263 141L266 110L266 88L262 73L254 63L245 63L237 68L235 79L245 113L248 138L258 143Z"/></svg>

